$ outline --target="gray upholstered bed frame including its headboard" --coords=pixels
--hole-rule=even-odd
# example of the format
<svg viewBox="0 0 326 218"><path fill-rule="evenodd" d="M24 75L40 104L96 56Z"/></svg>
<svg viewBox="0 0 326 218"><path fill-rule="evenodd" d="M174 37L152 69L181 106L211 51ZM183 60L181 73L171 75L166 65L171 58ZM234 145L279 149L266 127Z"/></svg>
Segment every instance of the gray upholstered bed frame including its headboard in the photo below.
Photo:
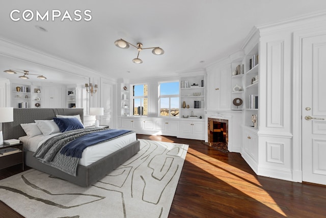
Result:
<svg viewBox="0 0 326 218"><path fill-rule="evenodd" d="M80 119L84 122L84 110L81 108L14 108L14 122L3 124L3 135L5 139L19 138L26 135L20 124L34 123L35 119L52 119L60 115L80 115ZM110 154L88 166L78 165L77 175L71 176L60 171L57 168L41 163L35 157L34 152L24 151L24 163L27 166L38 169L47 174L57 176L61 179L68 180L80 186L88 187L96 181L102 179L106 174L110 173L140 151L140 142L134 141L126 147Z"/></svg>

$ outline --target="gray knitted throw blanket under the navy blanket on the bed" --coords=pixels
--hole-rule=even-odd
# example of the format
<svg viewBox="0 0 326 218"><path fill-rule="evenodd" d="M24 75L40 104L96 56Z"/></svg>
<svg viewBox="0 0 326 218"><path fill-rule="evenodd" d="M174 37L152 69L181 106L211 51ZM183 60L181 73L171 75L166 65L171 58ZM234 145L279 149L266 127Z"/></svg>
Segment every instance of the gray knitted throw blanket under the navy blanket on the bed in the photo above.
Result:
<svg viewBox="0 0 326 218"><path fill-rule="evenodd" d="M61 154L61 149L65 146L66 143L74 140L75 138L104 130L107 129L85 128L58 134L44 141L42 145L36 150L33 156L44 164L58 168L61 171L72 176L76 176L76 169L79 158L68 157L64 154Z"/></svg>

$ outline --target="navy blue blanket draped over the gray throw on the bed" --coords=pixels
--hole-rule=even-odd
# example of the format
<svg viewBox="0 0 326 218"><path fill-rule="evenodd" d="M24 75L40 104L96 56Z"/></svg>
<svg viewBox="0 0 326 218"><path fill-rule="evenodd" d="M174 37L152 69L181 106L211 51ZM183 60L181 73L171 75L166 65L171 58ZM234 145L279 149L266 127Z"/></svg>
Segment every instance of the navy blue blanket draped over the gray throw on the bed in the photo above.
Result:
<svg viewBox="0 0 326 218"><path fill-rule="evenodd" d="M129 132L132 131L109 129L100 132L89 133L68 142L65 147L62 148L60 153L70 157L82 158L82 153L87 147L92 146L98 142L108 141L113 138L123 136Z"/></svg>

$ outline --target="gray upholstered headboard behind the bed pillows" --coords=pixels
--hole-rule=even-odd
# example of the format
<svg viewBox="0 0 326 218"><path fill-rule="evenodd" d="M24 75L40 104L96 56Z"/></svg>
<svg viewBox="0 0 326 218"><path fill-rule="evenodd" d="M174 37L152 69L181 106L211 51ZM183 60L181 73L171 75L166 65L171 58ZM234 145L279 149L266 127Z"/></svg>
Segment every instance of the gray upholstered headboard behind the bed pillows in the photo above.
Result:
<svg viewBox="0 0 326 218"><path fill-rule="evenodd" d="M34 123L35 119L52 119L57 114L79 114L84 123L83 108L14 108L14 122L3 124L4 140L26 135L20 124Z"/></svg>

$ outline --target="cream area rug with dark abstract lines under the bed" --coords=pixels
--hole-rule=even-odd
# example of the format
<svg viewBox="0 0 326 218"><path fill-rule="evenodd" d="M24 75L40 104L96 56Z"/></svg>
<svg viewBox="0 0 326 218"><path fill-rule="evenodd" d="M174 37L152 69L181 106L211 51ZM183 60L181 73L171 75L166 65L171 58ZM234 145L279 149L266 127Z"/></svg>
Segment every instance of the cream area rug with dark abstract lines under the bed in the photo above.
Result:
<svg viewBox="0 0 326 218"><path fill-rule="evenodd" d="M188 145L139 139L141 150L85 188L30 169L0 180L0 200L29 217L168 217Z"/></svg>

